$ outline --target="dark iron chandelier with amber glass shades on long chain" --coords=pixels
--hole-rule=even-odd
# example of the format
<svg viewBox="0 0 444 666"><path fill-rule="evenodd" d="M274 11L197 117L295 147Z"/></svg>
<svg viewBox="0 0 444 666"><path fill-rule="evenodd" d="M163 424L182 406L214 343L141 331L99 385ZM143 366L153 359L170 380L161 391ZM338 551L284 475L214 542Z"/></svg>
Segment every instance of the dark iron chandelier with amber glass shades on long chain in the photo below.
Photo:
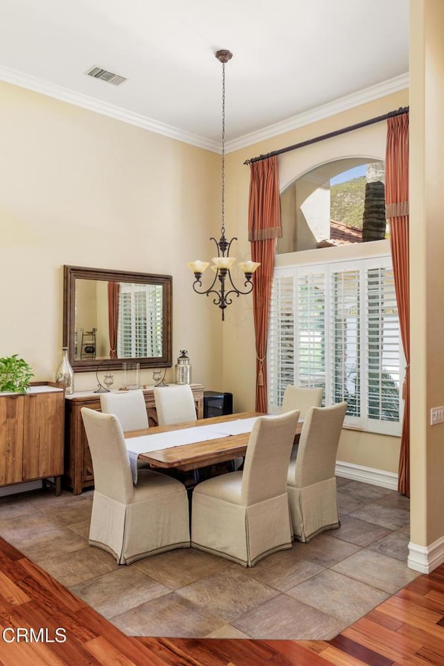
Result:
<svg viewBox="0 0 444 666"><path fill-rule="evenodd" d="M217 249L217 256L212 258L212 270L215 273L214 279L210 287L201 290L202 281L201 277L203 272L208 268L210 262L208 261L189 261L188 265L194 272L193 289L196 294L206 296L213 295L214 305L219 306L222 310L222 321L225 319L225 308L232 304L232 297L239 295L250 294L253 291L253 282L251 281L253 273L260 266L255 261L244 261L239 263L239 268L244 272L245 282L244 291L234 286L230 270L236 261L236 258L230 256L230 247L233 240L237 240L234 236L231 240L225 238L225 64L232 58L231 51L225 49L216 51L216 58L222 63L222 224L221 224L221 238L216 240L214 236L210 240L214 241ZM218 285L219 281L219 285Z"/></svg>

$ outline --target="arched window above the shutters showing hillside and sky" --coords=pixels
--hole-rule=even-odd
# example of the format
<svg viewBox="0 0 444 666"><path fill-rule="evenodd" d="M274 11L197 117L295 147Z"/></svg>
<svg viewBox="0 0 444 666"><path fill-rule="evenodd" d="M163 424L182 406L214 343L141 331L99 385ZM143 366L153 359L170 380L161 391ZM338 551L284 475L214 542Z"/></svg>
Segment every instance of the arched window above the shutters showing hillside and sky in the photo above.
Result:
<svg viewBox="0 0 444 666"><path fill-rule="evenodd" d="M384 161L348 157L322 164L280 196L278 254L387 237Z"/></svg>

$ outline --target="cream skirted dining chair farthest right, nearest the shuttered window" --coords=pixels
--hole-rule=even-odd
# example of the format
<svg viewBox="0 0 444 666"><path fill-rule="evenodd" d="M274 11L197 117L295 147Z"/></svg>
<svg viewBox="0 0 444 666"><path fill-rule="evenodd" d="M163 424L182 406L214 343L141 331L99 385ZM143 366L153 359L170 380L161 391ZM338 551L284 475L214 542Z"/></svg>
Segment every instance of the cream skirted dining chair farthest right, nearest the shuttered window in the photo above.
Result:
<svg viewBox="0 0 444 666"><path fill-rule="evenodd" d="M291 524L298 541L340 525L334 470L346 409L347 403L312 407L305 416L298 455L291 459L287 475Z"/></svg>

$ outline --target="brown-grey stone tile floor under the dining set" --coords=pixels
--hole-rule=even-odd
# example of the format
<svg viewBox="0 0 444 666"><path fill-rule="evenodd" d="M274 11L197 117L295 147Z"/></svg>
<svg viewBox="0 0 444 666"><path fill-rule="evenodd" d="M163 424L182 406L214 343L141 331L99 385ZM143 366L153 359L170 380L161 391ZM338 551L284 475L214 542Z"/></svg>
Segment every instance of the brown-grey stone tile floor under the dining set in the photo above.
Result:
<svg viewBox="0 0 444 666"><path fill-rule="evenodd" d="M123 632L328 639L393 595L407 567L409 500L338 479L341 527L245 569L194 549L130 566L87 543L92 491L0 499L0 535Z"/></svg>

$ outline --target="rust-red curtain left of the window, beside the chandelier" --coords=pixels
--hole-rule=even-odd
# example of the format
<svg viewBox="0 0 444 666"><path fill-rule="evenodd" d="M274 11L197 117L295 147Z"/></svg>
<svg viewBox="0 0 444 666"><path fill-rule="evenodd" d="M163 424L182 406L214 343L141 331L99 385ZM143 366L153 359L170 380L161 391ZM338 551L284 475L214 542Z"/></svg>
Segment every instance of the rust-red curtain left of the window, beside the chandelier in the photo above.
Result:
<svg viewBox="0 0 444 666"><path fill-rule="evenodd" d="M266 341L270 317L271 284L275 264L276 239L282 236L278 157L250 164L248 240L251 258L259 261L253 281L253 308L256 335L256 411L267 412Z"/></svg>

